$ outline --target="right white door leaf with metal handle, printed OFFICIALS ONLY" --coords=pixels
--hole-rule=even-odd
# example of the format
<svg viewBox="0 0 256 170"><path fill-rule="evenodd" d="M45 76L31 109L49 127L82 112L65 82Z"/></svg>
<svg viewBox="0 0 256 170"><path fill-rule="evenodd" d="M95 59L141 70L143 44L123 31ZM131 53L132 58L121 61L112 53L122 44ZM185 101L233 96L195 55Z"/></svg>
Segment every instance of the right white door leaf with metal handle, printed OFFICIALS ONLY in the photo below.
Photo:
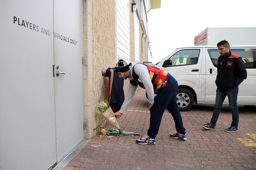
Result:
<svg viewBox="0 0 256 170"><path fill-rule="evenodd" d="M54 1L57 160L84 139L83 1ZM59 68L59 69L57 69Z"/></svg>

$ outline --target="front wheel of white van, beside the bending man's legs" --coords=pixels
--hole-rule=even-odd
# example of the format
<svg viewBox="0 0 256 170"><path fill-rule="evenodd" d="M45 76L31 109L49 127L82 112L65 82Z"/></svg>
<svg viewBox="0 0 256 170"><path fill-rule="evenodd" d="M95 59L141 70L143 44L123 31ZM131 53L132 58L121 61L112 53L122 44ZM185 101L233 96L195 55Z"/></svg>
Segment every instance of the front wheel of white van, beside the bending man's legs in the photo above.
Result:
<svg viewBox="0 0 256 170"><path fill-rule="evenodd" d="M186 88L178 88L177 90L177 105L180 111L188 111L194 104L194 96Z"/></svg>

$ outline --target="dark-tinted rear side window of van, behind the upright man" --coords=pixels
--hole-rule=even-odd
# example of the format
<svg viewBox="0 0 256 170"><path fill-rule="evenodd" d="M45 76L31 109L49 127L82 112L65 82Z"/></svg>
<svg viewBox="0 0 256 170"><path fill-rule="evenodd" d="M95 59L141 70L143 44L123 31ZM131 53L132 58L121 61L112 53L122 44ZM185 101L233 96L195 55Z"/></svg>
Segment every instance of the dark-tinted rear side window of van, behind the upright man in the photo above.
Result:
<svg viewBox="0 0 256 170"><path fill-rule="evenodd" d="M217 67L218 58L220 56L217 49L208 49L208 54L214 67ZM256 68L256 49L255 48L230 48L231 53L242 57L246 69Z"/></svg>

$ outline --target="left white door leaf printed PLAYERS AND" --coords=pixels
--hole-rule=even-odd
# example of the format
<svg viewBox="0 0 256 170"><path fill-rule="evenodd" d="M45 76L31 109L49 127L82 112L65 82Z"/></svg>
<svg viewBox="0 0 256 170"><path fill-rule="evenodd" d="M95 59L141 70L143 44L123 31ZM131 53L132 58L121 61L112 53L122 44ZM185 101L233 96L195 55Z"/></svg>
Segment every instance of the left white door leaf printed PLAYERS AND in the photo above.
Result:
<svg viewBox="0 0 256 170"><path fill-rule="evenodd" d="M0 20L0 169L47 170L56 163L53 1L0 1Z"/></svg>

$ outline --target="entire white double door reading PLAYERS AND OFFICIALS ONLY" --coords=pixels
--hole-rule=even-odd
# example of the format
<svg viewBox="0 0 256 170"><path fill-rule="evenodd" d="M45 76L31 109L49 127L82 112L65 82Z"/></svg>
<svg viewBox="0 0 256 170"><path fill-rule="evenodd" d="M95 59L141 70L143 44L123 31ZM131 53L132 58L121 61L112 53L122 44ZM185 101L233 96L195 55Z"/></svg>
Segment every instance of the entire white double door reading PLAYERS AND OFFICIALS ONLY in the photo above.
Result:
<svg viewBox="0 0 256 170"><path fill-rule="evenodd" d="M51 169L84 138L82 7L0 1L1 170Z"/></svg>

